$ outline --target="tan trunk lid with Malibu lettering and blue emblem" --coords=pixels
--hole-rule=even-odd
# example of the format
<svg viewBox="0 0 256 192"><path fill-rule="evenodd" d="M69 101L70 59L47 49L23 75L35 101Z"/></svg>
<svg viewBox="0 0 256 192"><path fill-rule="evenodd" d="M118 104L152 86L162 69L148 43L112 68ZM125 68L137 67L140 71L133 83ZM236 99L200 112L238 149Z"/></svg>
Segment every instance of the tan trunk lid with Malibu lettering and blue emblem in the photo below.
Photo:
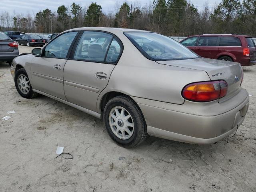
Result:
<svg viewBox="0 0 256 192"><path fill-rule="evenodd" d="M228 84L228 92L226 96L218 100L219 102L232 98L240 91L243 71L239 63L207 58L156 62L164 65L202 70L208 74L211 80L225 80Z"/></svg>

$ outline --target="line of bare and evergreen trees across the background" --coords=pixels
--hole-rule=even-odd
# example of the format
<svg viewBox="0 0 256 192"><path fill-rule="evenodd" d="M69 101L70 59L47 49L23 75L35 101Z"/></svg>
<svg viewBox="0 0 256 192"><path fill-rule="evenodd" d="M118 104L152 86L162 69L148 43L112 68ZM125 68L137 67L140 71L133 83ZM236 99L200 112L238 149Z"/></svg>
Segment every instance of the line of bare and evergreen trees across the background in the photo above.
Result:
<svg viewBox="0 0 256 192"><path fill-rule="evenodd" d="M72 3L57 10L45 9L35 15L0 14L0 31L18 30L56 33L70 28L100 26L150 30L167 36L206 33L237 33L256 36L256 0L222 0L216 6L195 7L186 0L154 0L140 6L127 2L115 12L103 13L93 2L88 7Z"/></svg>

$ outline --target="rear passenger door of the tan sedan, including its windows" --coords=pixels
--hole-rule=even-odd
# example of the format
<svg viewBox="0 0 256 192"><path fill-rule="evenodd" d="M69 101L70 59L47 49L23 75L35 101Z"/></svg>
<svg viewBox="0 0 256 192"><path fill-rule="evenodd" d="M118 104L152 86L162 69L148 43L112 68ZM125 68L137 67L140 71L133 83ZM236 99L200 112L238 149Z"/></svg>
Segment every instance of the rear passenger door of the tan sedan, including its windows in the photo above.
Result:
<svg viewBox="0 0 256 192"><path fill-rule="evenodd" d="M102 44L95 44L101 38ZM120 57L119 40L112 34L84 31L65 64L64 92L69 102L96 111L100 92L107 86ZM73 52L72 51L72 52Z"/></svg>

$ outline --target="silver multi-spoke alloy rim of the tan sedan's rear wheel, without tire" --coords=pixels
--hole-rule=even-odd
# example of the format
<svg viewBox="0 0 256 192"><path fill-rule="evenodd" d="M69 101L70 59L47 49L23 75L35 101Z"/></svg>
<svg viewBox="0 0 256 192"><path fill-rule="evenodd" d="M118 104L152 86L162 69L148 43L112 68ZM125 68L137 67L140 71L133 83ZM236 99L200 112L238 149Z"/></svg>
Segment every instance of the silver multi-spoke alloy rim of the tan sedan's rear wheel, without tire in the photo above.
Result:
<svg viewBox="0 0 256 192"><path fill-rule="evenodd" d="M134 121L123 107L116 106L109 113L109 125L112 132L120 139L129 139L134 132Z"/></svg>

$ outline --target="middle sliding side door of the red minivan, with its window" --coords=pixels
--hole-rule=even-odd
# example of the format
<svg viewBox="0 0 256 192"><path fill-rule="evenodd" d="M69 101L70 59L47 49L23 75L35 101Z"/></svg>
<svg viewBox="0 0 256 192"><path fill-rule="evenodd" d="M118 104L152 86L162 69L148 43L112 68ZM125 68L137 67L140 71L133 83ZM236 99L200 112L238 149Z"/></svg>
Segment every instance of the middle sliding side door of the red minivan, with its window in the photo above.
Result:
<svg viewBox="0 0 256 192"><path fill-rule="evenodd" d="M200 36L195 52L201 57L213 59L219 53L218 36Z"/></svg>

